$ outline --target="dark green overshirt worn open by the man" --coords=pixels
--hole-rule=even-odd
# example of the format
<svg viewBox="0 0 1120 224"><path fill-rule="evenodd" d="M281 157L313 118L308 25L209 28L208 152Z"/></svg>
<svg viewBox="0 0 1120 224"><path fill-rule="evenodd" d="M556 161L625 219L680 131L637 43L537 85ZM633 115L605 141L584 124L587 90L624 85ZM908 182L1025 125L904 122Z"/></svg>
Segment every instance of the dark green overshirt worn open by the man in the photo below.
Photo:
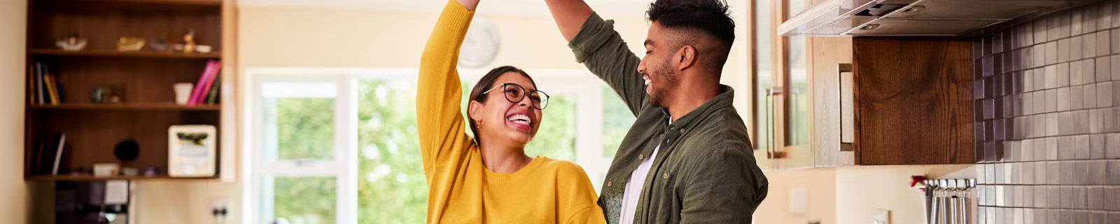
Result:
<svg viewBox="0 0 1120 224"><path fill-rule="evenodd" d="M730 86L718 86L719 95L670 124L669 111L650 104L636 69L641 59L614 30L613 20L591 13L568 46L637 116L603 181L598 204L607 223L618 223L626 185L643 184L627 183L631 174L659 144L634 223L750 223L766 198L767 183L755 164L747 128L731 106Z"/></svg>

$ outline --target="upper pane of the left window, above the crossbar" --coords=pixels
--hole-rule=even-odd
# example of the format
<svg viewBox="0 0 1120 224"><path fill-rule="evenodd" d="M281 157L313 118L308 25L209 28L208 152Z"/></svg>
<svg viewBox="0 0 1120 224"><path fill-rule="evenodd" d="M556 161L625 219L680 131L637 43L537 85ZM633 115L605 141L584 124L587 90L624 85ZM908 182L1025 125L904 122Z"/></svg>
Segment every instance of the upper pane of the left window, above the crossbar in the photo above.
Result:
<svg viewBox="0 0 1120 224"><path fill-rule="evenodd" d="M267 158L332 159L336 92L334 83L264 83Z"/></svg>

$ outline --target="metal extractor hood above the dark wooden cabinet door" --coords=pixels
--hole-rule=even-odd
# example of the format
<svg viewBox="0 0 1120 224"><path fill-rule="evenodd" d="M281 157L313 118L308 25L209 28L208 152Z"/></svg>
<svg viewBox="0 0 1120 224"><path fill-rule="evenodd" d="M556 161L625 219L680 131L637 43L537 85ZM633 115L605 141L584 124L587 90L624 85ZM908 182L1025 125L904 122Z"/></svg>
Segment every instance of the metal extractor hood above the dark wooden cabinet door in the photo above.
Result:
<svg viewBox="0 0 1120 224"><path fill-rule="evenodd" d="M782 36L960 36L1099 0L828 0L777 27Z"/></svg>

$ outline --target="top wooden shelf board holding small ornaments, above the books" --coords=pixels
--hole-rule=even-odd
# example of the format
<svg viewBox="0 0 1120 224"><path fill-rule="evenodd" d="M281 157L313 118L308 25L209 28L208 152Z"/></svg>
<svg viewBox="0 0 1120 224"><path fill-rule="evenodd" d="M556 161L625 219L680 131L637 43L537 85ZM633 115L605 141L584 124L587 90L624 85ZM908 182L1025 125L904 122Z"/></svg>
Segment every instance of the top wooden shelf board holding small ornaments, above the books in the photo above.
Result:
<svg viewBox="0 0 1120 224"><path fill-rule="evenodd" d="M184 59L217 59L222 58L222 53L172 53L172 52L120 52L102 49L84 50L62 50L62 49L29 49L30 55L37 56L81 56L81 57L144 57L144 58L184 58Z"/></svg>

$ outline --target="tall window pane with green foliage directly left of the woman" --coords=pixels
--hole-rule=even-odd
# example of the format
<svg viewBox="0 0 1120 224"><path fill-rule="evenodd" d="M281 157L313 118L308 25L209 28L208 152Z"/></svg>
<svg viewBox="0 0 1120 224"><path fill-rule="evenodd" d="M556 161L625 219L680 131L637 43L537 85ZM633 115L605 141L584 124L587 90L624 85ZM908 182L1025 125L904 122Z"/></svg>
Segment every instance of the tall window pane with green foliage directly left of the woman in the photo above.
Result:
<svg viewBox="0 0 1120 224"><path fill-rule="evenodd" d="M358 223L424 222L414 88L411 80L358 82Z"/></svg>

